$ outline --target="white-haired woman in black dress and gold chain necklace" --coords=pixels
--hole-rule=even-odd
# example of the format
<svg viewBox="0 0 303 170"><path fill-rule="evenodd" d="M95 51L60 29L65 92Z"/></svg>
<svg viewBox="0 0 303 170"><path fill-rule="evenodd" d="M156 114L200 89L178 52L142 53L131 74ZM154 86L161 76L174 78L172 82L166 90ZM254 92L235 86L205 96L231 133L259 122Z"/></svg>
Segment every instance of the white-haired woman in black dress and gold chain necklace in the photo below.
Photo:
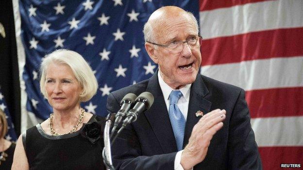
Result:
<svg viewBox="0 0 303 170"><path fill-rule="evenodd" d="M40 90L53 113L20 135L12 170L102 170L103 120L80 102L96 94L98 83L77 52L60 49L40 68Z"/></svg>

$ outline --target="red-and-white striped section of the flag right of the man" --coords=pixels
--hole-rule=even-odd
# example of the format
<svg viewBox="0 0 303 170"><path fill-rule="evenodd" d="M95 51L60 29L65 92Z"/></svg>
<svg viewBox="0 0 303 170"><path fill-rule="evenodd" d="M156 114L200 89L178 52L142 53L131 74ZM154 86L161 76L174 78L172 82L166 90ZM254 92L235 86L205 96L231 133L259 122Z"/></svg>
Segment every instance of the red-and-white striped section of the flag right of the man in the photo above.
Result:
<svg viewBox="0 0 303 170"><path fill-rule="evenodd" d="M303 0L201 0L205 76L246 91L263 168L303 166Z"/></svg>

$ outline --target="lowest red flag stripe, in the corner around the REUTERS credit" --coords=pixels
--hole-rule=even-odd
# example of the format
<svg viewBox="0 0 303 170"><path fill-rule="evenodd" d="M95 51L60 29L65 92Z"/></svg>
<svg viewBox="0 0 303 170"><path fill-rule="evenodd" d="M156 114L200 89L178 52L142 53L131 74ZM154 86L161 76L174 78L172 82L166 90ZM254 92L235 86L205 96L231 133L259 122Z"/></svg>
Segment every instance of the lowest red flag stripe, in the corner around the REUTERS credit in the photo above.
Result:
<svg viewBox="0 0 303 170"><path fill-rule="evenodd" d="M302 147L259 147L264 170L301 170L303 168ZM281 168L281 164L301 164L301 168Z"/></svg>

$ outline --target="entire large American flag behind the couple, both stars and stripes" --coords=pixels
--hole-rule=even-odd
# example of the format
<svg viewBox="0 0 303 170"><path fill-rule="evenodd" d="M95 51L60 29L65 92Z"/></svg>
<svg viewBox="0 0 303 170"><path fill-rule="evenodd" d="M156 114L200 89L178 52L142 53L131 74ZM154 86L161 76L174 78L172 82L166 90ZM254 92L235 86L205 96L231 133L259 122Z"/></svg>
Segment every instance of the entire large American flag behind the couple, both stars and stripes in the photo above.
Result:
<svg viewBox="0 0 303 170"><path fill-rule="evenodd" d="M77 51L99 90L83 103L106 115L110 92L152 76L143 25L176 5L200 22L201 74L246 90L264 169L303 164L302 0L13 0L21 79L21 131L52 112L39 90L39 63L59 48Z"/></svg>

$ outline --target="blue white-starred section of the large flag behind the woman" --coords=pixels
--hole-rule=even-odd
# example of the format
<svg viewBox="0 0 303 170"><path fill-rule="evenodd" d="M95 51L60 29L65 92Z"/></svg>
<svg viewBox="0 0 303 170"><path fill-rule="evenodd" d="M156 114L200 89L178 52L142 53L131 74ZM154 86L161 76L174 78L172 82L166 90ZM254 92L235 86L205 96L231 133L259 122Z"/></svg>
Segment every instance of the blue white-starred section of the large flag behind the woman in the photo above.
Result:
<svg viewBox="0 0 303 170"><path fill-rule="evenodd" d="M20 0L23 105L27 112L22 114L21 131L49 118L52 112L40 93L38 70L43 57L59 48L77 51L89 62L99 90L82 107L106 116L110 92L147 79L156 71L145 51L142 29L153 11L167 5L180 6L199 17L198 0Z"/></svg>

